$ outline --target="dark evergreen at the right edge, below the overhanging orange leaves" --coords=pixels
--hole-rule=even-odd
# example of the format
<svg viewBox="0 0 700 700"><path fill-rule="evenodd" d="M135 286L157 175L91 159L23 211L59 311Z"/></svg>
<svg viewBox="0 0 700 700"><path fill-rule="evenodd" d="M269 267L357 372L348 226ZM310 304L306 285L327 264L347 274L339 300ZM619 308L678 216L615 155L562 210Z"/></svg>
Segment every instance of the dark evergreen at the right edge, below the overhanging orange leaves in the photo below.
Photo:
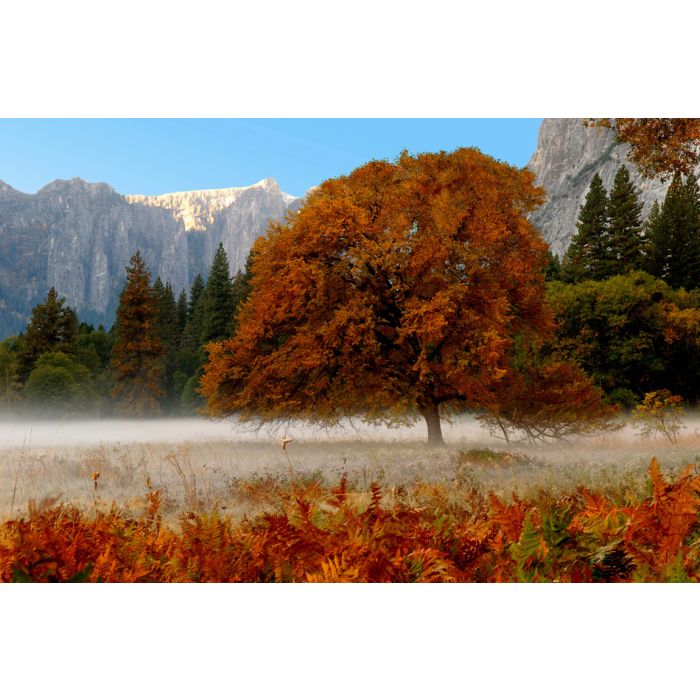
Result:
<svg viewBox="0 0 700 700"><path fill-rule="evenodd" d="M700 193L693 175L676 175L661 207L656 205L646 225L647 270L678 289L700 286Z"/></svg>

